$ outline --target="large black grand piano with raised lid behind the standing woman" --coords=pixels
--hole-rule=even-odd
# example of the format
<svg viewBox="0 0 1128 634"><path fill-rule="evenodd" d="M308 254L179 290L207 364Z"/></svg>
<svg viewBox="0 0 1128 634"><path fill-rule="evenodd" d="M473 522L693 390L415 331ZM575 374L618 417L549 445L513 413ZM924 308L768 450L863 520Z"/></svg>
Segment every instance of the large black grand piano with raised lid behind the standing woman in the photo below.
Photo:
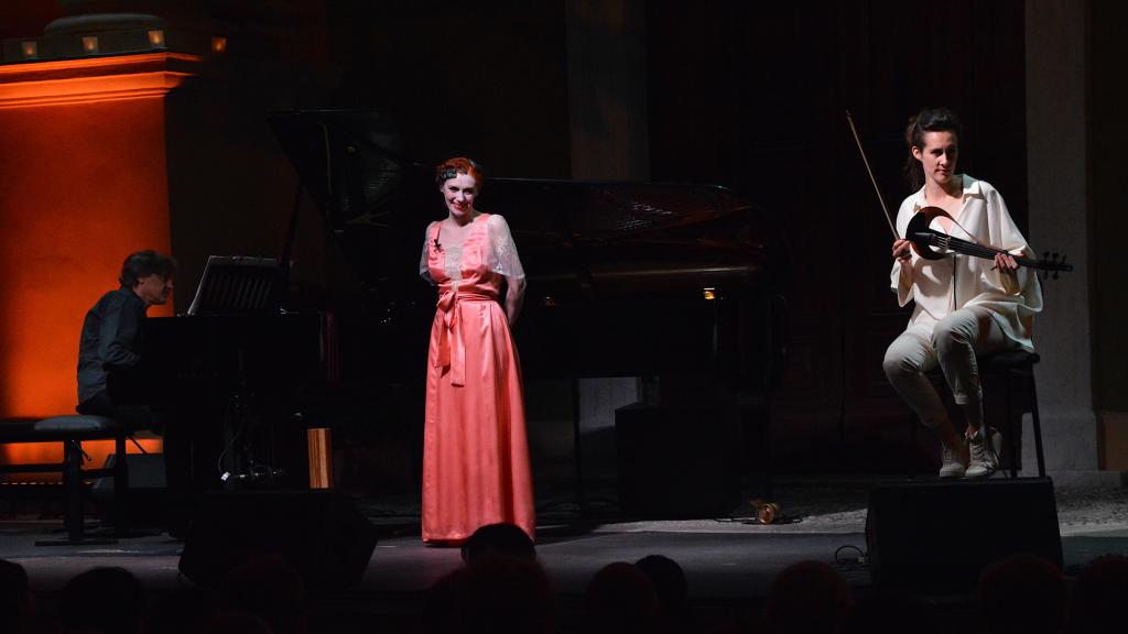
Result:
<svg viewBox="0 0 1128 634"><path fill-rule="evenodd" d="M188 367L188 377L204 377L186 381L195 391L273 386L275 415L298 410L283 398L294 394L288 377L299 378L308 407L309 395L328 394L317 384L340 372L354 389L329 398L376 390L411 400L382 403L382 417L412 419L403 424L417 432L435 301L418 262L426 224L442 217L433 168L409 158L381 111L288 111L270 123L363 280L363 302L340 316L340 332L326 332L324 315L279 315L281 301L254 315L155 320L165 343L149 363L177 376ZM761 210L712 185L488 177L477 206L506 218L528 276L514 329L526 380L646 377L656 402L689 394L720 407L766 403L782 349L772 223ZM279 337L297 341L299 353L272 347ZM337 349L340 366L326 358Z"/></svg>

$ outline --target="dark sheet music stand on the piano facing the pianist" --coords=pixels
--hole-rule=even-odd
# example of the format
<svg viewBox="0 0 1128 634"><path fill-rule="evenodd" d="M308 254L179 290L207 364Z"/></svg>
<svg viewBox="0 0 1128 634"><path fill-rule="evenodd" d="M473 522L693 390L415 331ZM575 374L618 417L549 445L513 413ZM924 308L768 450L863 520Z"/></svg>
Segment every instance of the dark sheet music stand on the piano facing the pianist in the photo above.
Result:
<svg viewBox="0 0 1128 634"><path fill-rule="evenodd" d="M246 315L281 306L283 271L275 257L212 255L188 315Z"/></svg>

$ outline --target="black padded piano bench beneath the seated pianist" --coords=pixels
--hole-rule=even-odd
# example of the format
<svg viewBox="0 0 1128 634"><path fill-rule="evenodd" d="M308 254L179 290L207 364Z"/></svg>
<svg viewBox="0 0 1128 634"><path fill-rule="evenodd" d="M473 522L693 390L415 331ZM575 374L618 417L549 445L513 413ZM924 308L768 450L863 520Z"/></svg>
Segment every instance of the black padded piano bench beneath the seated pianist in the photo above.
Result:
<svg viewBox="0 0 1128 634"><path fill-rule="evenodd" d="M50 419L0 420L0 444L23 442L62 442L62 463L25 465L0 465L0 474L11 473L60 473L63 476L65 512L63 526L67 538L39 540L36 546L59 546L74 544L114 544L116 539L92 539L83 535L82 488L88 478L109 476L114 478L114 532L127 534L125 496L129 490L126 460L115 460L112 468L83 469L82 460L89 459L82 451L83 440L113 440L114 451L125 456L125 439L130 434L127 425L105 416L53 416Z"/></svg>

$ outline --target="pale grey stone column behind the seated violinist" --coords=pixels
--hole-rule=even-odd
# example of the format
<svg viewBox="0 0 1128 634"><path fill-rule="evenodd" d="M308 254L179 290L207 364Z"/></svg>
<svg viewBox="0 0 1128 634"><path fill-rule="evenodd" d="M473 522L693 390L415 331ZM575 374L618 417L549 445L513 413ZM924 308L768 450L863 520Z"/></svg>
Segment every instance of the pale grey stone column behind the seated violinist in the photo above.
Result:
<svg viewBox="0 0 1128 634"><path fill-rule="evenodd" d="M1036 319L1037 368L1047 469L1060 484L1098 469L1093 408L1086 138L1087 3L1028 0L1026 148L1030 240L1069 254L1076 270L1043 283ZM1037 473L1029 416L1023 423L1023 474Z"/></svg>

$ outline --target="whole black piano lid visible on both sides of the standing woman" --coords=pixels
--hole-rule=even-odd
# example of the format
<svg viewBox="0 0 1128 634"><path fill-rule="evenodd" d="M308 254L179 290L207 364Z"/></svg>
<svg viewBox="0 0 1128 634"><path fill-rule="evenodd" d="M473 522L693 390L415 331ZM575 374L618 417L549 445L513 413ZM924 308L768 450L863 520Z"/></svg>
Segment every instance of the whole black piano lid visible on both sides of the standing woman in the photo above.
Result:
<svg viewBox="0 0 1128 634"><path fill-rule="evenodd" d="M414 283L424 228L443 210L388 113L270 121L361 276ZM531 292L561 301L743 289L768 263L763 213L715 185L487 178L477 206L509 221Z"/></svg>

